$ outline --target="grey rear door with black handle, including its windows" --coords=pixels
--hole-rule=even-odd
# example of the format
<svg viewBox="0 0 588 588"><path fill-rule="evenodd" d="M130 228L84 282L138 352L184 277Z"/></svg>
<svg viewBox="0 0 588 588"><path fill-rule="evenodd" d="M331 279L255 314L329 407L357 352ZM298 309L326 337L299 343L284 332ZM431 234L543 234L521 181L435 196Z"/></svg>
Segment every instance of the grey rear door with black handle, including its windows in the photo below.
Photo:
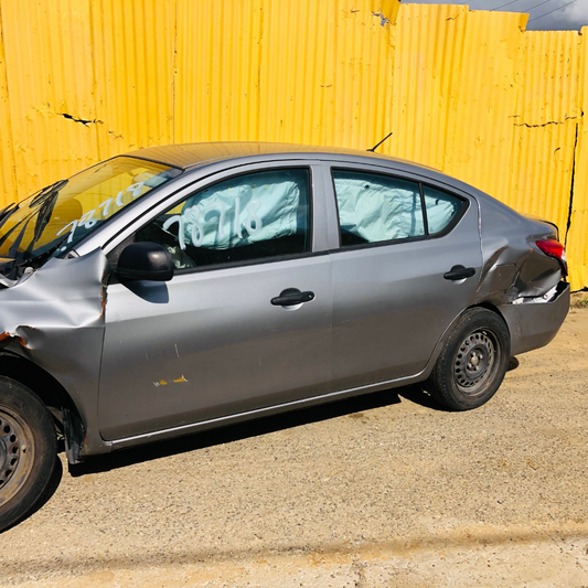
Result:
<svg viewBox="0 0 588 588"><path fill-rule="evenodd" d="M331 173L334 387L418 374L477 289L478 204L381 169Z"/></svg>

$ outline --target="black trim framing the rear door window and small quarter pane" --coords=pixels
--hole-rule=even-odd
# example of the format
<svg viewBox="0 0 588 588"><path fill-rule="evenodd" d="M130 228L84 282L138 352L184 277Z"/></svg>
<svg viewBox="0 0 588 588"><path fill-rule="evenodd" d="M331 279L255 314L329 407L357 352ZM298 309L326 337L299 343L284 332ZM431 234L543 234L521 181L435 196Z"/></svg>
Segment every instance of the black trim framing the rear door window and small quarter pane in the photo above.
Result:
<svg viewBox="0 0 588 588"><path fill-rule="evenodd" d="M415 237L404 237L399 239L388 239L388 240L378 240L375 243L361 243L359 245L348 245L344 246L341 244L341 220L339 216L339 201L336 199L336 189L334 185L334 178L333 178L333 171L352 171L352 172L360 172L360 173L366 173L366 174L373 174L373 175L385 175L386 178L393 178L405 182L413 182L417 183L419 185L420 191L420 205L423 210L423 220L425 225L425 235L418 235ZM417 180L411 177L403 177L403 175L396 175L394 173L386 173L385 171L374 171L372 169L365 169L365 168L350 168L350 167L340 167L340 165L331 165L330 168L330 175L331 175L331 184L333 189L333 195L335 201L335 210L336 210L336 226L338 226L338 233L339 233L339 247L336 249L331 249L329 253L339 253L339 252L352 252L356 249L366 249L370 247L384 247L388 245L398 245L400 243L415 243L419 240L430 240L430 239L437 239L445 237L449 233L456 228L456 226L459 224L461 218L466 215L470 207L470 200L466 196L462 196L460 194L456 194L455 192L450 192L449 190L445 188L439 188L435 185L434 183ZM446 227L443 227L442 231L439 231L438 233L434 233L432 235L429 233L429 222L427 216L427 207L425 205L425 186L432 188L434 190L438 190L439 192L445 192L448 195L456 197L457 200L460 200L462 202L462 205L458 213L451 218L451 221L447 224Z"/></svg>

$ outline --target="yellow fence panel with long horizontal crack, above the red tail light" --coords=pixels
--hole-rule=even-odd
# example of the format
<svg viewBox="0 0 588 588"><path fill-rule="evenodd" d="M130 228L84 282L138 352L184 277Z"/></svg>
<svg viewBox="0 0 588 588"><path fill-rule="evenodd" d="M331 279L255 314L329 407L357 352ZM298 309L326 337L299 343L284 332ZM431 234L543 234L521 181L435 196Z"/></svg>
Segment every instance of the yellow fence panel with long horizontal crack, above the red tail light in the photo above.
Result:
<svg viewBox="0 0 588 588"><path fill-rule="evenodd" d="M566 238L575 161L581 38L528 32L517 56L518 103L509 204L554 221ZM557 194L557 197L554 195Z"/></svg>

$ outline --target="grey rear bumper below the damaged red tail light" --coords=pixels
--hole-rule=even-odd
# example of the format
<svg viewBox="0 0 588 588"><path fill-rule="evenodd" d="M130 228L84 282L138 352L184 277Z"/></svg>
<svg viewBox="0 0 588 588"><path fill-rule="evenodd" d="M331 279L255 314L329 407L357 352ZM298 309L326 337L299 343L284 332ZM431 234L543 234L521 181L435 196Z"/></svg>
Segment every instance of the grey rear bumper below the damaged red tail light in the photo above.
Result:
<svg viewBox="0 0 588 588"><path fill-rule="evenodd" d="M511 355L547 345L569 311L569 284L560 281L549 302L504 304L500 311L511 331Z"/></svg>

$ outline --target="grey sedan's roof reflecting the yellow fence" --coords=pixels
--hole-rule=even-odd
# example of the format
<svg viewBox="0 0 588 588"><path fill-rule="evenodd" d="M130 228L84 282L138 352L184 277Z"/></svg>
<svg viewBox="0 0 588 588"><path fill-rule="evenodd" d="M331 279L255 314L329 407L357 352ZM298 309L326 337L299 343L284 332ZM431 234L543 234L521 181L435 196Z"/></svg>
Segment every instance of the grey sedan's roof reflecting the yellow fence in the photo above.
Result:
<svg viewBox="0 0 588 588"><path fill-rule="evenodd" d="M156 161L167 165L173 165L183 170L214 163L221 160L249 158L256 156L300 156L312 154L323 156L328 159L341 157L362 158L365 160L385 160L404 163L426 170L434 170L427 165L421 165L413 161L393 158L372 151L360 151L359 149L345 149L339 147L320 147L296 143L272 143L272 142L207 142L207 143L184 143L168 145L160 147L148 147L126 153L126 156ZM434 170L438 171L438 170Z"/></svg>

